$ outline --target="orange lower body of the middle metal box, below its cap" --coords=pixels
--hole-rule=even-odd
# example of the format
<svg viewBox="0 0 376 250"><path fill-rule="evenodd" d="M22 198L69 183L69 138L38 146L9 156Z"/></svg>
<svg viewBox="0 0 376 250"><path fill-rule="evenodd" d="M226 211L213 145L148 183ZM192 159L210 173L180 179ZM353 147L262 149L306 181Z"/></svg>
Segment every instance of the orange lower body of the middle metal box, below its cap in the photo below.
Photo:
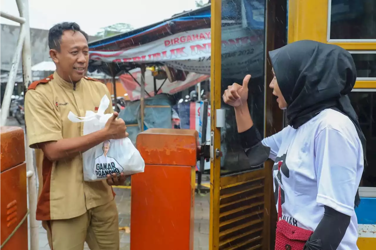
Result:
<svg viewBox="0 0 376 250"><path fill-rule="evenodd" d="M130 250L193 250L194 181L190 166L146 165L132 176Z"/></svg>

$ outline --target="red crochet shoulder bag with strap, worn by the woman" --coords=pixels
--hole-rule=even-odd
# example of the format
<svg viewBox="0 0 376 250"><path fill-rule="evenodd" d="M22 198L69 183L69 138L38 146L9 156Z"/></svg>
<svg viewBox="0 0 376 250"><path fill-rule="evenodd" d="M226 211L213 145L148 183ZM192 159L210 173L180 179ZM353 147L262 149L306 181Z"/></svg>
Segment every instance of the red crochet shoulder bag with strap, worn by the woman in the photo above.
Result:
<svg viewBox="0 0 376 250"><path fill-rule="evenodd" d="M278 163L278 170L282 161ZM303 250L306 241L311 237L313 231L296 227L282 220L281 188L278 190L278 222L276 230L275 250Z"/></svg>

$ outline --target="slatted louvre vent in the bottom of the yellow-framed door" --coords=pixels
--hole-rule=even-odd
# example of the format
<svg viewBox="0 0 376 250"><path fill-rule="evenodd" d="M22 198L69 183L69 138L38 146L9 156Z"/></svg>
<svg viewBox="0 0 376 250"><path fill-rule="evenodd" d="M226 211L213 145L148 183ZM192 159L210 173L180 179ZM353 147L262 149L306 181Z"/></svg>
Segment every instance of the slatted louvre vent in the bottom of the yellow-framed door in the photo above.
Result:
<svg viewBox="0 0 376 250"><path fill-rule="evenodd" d="M264 177L221 187L219 249L261 249Z"/></svg>

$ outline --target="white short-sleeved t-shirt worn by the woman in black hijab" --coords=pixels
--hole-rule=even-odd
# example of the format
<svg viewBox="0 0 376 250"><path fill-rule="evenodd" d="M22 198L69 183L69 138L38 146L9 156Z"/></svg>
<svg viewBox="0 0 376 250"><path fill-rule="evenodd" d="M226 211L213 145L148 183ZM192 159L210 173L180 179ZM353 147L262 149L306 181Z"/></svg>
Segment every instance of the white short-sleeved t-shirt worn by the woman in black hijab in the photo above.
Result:
<svg viewBox="0 0 376 250"><path fill-rule="evenodd" d="M297 130L288 126L262 144L270 147L269 158L275 161L274 197L278 209L280 185L282 219L314 231L323 218L324 205L329 206L351 216L337 249L357 250L354 196L364 160L361 141L349 117L326 109ZM280 173L279 161L283 162Z"/></svg>

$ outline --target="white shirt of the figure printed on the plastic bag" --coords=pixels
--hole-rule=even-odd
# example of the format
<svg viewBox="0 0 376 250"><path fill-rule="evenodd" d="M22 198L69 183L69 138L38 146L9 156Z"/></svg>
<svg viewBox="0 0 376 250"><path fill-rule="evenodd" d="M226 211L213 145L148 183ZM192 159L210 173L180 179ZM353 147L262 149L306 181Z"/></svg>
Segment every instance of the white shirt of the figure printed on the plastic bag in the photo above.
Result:
<svg viewBox="0 0 376 250"><path fill-rule="evenodd" d="M116 173L120 175L123 172L123 167L115 160L115 158L108 157L105 154L100 155L94 162L94 173L97 178L104 178L107 175Z"/></svg>

